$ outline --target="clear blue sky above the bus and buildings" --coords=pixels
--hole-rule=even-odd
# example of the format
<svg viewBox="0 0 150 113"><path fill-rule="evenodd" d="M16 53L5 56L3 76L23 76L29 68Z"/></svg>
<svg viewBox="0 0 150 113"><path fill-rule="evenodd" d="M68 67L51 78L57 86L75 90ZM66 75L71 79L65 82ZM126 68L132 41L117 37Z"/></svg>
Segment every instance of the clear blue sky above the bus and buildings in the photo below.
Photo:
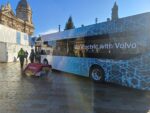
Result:
<svg viewBox="0 0 150 113"><path fill-rule="evenodd" d="M0 6L10 2L15 13L20 0L0 0ZM111 18L114 2L119 6L119 18L150 12L150 0L27 0L33 12L34 36L64 30L72 16L76 28Z"/></svg>

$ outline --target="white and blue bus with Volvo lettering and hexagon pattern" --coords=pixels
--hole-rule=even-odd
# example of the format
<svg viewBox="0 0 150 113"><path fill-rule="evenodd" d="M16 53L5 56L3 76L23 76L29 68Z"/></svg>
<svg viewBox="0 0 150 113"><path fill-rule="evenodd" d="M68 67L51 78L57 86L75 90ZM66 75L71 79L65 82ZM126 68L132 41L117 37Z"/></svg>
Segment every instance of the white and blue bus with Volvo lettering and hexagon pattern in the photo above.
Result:
<svg viewBox="0 0 150 113"><path fill-rule="evenodd" d="M150 13L42 36L53 69L150 90Z"/></svg>

